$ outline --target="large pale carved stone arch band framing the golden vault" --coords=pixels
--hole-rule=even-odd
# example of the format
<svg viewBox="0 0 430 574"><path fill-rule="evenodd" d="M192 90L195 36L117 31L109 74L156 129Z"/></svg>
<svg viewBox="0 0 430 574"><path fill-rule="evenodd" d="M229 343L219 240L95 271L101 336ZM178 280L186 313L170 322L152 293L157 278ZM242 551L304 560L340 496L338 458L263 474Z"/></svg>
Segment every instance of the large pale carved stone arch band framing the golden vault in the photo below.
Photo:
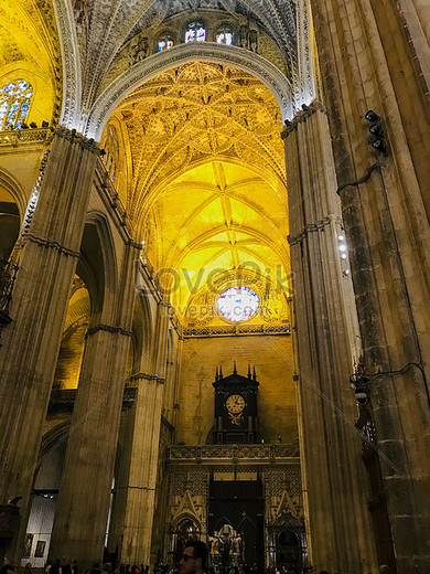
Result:
<svg viewBox="0 0 430 574"><path fill-rule="evenodd" d="M117 77L100 94L89 111L85 129L86 136L99 140L110 114L128 94L160 72L192 60L219 62L221 64L233 64L241 67L258 77L270 89L279 104L282 118L292 118L293 88L291 82L273 64L241 47L209 42L198 45L196 42L190 42L153 54L130 66Z"/></svg>

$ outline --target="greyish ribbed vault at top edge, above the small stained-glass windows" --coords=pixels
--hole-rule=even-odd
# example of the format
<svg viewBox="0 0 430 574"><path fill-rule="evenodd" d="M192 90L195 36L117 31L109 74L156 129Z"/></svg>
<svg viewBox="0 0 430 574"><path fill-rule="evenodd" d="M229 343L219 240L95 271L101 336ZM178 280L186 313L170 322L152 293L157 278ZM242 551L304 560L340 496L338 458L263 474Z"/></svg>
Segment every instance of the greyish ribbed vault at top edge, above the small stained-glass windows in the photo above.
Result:
<svg viewBox="0 0 430 574"><path fill-rule="evenodd" d="M88 111L121 47L174 14L216 9L251 19L287 55L294 52L292 0L75 0L75 26L83 73L83 109Z"/></svg>

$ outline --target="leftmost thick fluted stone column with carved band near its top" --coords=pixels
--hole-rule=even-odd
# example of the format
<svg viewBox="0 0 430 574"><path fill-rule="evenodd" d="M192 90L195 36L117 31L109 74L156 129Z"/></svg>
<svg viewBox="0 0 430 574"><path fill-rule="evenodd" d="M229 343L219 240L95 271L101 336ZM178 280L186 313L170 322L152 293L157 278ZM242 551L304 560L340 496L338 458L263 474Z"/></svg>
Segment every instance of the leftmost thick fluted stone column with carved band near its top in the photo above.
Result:
<svg viewBox="0 0 430 574"><path fill-rule="evenodd" d="M21 496L15 549L21 557L72 280L84 231L98 148L75 131L57 128L42 162L21 236L10 316L0 349L0 502Z"/></svg>

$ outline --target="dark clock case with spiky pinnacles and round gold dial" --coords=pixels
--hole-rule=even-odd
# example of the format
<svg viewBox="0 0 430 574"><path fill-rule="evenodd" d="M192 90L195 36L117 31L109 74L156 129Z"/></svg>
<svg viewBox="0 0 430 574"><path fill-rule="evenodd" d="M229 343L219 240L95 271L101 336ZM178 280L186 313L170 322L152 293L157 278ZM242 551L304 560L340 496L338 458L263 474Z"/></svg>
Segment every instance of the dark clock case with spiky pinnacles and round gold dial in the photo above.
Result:
<svg viewBox="0 0 430 574"><path fill-rule="evenodd" d="M215 382L215 424L214 443L255 444L257 431L257 381L256 370L248 366L248 375L237 373L236 363L233 374L223 376L222 368L216 369Z"/></svg>

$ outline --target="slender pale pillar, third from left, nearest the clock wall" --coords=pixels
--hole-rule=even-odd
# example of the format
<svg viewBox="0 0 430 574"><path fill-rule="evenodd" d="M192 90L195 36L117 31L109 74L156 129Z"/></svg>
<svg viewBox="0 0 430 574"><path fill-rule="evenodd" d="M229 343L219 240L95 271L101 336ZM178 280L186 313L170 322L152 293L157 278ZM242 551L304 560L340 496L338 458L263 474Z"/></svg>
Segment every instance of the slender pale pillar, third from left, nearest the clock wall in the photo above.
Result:
<svg viewBox="0 0 430 574"><path fill-rule="evenodd" d="M159 463L160 422L165 382L169 305L158 304L158 318L151 349L149 374L133 376L138 386L132 421L132 446L126 489L120 561L125 564L149 564L155 480ZM147 361L143 361L147 362Z"/></svg>

